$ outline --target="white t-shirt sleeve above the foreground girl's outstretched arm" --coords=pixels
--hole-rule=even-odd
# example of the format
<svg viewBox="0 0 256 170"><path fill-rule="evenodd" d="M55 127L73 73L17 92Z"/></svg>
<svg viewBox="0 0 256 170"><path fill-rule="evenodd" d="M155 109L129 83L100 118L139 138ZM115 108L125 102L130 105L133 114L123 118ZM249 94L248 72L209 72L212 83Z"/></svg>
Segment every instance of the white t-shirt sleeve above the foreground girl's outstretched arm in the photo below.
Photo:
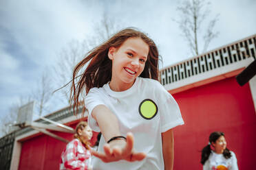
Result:
<svg viewBox="0 0 256 170"><path fill-rule="evenodd" d="M100 132L100 128L98 127L96 120L92 117L92 110L100 104L105 105L102 98L103 97L98 88L91 88L89 93L85 96L85 109L88 112L89 127L91 127L95 132Z"/></svg>

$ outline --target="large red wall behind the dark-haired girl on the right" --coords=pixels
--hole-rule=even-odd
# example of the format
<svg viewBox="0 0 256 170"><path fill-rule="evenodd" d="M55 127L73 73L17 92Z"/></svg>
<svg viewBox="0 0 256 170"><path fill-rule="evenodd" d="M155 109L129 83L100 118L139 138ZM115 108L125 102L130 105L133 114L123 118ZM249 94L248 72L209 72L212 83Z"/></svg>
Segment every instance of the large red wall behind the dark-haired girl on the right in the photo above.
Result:
<svg viewBox="0 0 256 170"><path fill-rule="evenodd" d="M173 97L185 122L174 129L175 170L202 169L200 151L214 131L225 133L239 169L255 167L256 114L248 84L241 87L231 77Z"/></svg>

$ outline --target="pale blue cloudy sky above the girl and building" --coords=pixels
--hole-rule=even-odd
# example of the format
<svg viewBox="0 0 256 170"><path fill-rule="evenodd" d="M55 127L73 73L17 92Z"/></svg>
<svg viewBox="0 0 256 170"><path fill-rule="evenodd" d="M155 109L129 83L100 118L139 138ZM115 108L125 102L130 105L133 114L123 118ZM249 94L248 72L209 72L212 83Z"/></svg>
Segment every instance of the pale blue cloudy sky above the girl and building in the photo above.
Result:
<svg viewBox="0 0 256 170"><path fill-rule="evenodd" d="M180 36L180 1L172 0L0 0L0 119L12 104L27 97L45 69L56 65L57 54L71 40L94 34L103 14L121 27L138 27L159 47L162 66L190 58L186 41ZM256 33L255 0L211 1L211 16L220 14L215 25L219 36L210 49ZM68 70L67 70L68 71ZM52 81L54 84L54 80ZM55 102L55 104L54 104ZM49 111L63 107L58 99Z"/></svg>

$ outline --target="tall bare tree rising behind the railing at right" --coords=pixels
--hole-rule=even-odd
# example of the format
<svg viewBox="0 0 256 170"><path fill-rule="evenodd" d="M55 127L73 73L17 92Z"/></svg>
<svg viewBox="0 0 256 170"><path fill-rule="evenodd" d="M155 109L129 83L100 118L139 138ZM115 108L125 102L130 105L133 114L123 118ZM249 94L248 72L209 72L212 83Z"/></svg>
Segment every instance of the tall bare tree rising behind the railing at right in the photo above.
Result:
<svg viewBox="0 0 256 170"><path fill-rule="evenodd" d="M205 0L185 0L182 4L177 8L180 19L173 19L176 23L178 23L182 36L188 42L189 48L191 49L191 53L193 55L198 56L200 53L200 49L198 45L198 36L200 36L202 32L202 23L206 21L209 16L210 10L210 2ZM213 38L217 37L217 33L213 32L213 28L215 23L217 22L218 15L215 16L214 19L209 21L209 26L206 29L206 33L203 36L204 40L204 48L202 52L206 51L209 47L209 43Z"/></svg>

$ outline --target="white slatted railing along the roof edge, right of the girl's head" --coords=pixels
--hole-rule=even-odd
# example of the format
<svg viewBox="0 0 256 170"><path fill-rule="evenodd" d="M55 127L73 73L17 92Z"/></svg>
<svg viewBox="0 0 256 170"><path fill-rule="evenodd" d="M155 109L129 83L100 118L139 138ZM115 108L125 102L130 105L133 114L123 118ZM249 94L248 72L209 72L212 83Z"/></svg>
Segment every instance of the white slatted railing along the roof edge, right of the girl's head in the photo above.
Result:
<svg viewBox="0 0 256 170"><path fill-rule="evenodd" d="M208 51L200 56L195 56L189 60L184 60L178 64L167 66L160 70L160 82L162 85L168 87L167 90L170 90L172 84L187 80L190 77L202 76L204 73L217 69L220 70L220 68L223 72L225 67L242 63L248 58L255 60L255 55L256 34L218 49ZM226 70L231 71L230 69Z"/></svg>

